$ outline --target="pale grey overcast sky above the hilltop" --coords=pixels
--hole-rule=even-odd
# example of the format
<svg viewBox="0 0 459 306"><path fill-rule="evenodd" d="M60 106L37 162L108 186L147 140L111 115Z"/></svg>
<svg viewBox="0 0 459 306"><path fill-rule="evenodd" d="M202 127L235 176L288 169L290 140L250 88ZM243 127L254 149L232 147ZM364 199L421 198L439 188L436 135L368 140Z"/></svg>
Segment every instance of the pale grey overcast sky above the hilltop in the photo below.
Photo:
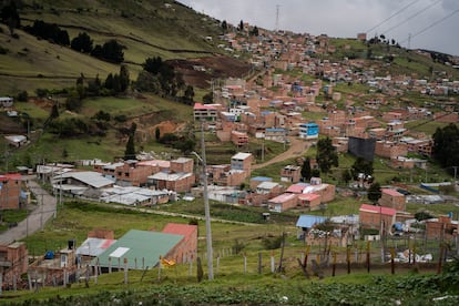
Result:
<svg viewBox="0 0 459 306"><path fill-rule="evenodd" d="M238 24L314 35L385 34L402 47L459 55L459 0L180 0ZM278 8L278 19L277 16ZM277 20L277 22L276 22ZM409 40L409 35L411 39ZM410 42L410 45L408 45Z"/></svg>

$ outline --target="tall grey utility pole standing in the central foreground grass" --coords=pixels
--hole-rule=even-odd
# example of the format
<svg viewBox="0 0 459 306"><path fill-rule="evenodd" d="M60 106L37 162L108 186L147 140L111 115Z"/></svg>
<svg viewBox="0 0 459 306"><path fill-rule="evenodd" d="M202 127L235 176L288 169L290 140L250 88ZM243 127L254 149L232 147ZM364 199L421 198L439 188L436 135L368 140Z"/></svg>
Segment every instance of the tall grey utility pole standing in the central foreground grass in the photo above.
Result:
<svg viewBox="0 0 459 306"><path fill-rule="evenodd" d="M204 213L205 213L205 239L207 244L207 274L208 280L214 279L214 263L213 263L213 249L212 249L212 230L211 230L211 208L208 205L207 193L207 173L206 173L206 157L205 157L205 142L204 142L204 123L201 122L201 163L203 165L203 184L204 184Z"/></svg>

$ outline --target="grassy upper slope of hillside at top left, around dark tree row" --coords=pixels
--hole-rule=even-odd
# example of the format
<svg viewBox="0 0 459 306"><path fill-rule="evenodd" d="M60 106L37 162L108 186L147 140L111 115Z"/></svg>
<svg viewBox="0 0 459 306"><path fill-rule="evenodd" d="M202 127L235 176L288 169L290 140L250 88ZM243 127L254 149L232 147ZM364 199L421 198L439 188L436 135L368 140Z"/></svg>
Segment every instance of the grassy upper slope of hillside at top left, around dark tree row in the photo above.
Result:
<svg viewBox="0 0 459 306"><path fill-rule="evenodd" d="M70 40L86 32L95 44L115 39L125 47L124 62L135 79L146 58L187 59L212 55L216 48L204 37L220 34L218 22L193 10L165 1L22 1L21 26L34 20L57 23ZM68 47L60 47L16 30L19 39L0 26L0 93L16 94L37 88L60 89L73 85L81 73L104 79L119 71L106 63Z"/></svg>

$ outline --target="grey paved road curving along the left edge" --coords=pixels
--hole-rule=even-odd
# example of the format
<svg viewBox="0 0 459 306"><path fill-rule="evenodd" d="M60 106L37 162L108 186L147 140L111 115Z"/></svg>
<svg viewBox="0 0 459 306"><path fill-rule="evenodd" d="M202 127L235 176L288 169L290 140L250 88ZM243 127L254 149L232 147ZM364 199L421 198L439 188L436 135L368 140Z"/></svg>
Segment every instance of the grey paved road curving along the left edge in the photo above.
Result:
<svg viewBox="0 0 459 306"><path fill-rule="evenodd" d="M29 180L27 185L37 198L37 205L29 216L21 221L18 226L0 234L0 244L8 245L14 241L22 239L29 234L40 231L44 224L54 216L57 201L48 194L35 181Z"/></svg>

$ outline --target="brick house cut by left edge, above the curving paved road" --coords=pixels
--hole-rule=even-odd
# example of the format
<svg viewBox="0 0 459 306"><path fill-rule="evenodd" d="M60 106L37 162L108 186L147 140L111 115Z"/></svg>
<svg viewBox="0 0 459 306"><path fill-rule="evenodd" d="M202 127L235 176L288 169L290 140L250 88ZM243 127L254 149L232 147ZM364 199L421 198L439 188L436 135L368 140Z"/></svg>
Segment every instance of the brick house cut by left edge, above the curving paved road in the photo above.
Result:
<svg viewBox="0 0 459 306"><path fill-rule="evenodd" d="M19 210L21 194L21 174L8 173L0 175L0 208Z"/></svg>

